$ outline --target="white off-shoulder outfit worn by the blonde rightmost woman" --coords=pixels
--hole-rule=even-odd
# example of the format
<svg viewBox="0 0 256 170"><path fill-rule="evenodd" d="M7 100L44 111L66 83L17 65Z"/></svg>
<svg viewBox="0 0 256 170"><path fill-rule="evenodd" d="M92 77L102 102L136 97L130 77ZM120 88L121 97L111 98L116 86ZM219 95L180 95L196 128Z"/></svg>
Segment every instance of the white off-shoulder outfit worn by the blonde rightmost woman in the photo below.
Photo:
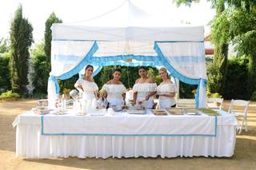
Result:
<svg viewBox="0 0 256 170"><path fill-rule="evenodd" d="M157 87L157 92L160 94L176 93L176 89L173 83L161 83ZM170 108L172 105L175 105L175 104L176 102L174 100L174 97L159 96L159 99L158 99L159 109Z"/></svg>

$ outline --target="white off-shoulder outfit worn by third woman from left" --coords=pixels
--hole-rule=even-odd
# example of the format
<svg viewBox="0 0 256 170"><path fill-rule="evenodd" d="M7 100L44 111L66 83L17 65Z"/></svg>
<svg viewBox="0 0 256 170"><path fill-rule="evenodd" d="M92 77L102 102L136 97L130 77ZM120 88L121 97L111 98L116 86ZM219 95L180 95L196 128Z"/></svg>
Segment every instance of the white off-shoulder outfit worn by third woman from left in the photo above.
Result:
<svg viewBox="0 0 256 170"><path fill-rule="evenodd" d="M133 87L134 93L138 92L136 101L143 101L142 106L145 109L152 109L154 106L154 98L150 97L149 100L145 100L147 95L149 95L151 92L156 91L156 88L156 83L136 83Z"/></svg>

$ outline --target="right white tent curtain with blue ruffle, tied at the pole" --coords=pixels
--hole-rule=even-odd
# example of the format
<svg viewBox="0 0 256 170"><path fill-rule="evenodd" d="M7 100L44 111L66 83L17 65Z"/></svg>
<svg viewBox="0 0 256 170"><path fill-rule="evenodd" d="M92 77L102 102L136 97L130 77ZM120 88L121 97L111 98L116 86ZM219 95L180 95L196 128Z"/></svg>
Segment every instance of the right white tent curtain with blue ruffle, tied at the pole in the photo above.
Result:
<svg viewBox="0 0 256 170"><path fill-rule="evenodd" d="M168 63L186 83L195 84L198 80L198 108L206 108L206 58L203 42L159 42L161 50Z"/></svg>

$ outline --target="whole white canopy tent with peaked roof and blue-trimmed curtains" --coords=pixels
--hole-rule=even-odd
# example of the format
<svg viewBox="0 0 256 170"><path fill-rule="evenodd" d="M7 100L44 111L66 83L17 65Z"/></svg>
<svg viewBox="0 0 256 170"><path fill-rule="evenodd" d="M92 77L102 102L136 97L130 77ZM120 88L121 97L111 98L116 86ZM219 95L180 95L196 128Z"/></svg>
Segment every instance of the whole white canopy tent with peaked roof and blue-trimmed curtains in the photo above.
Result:
<svg viewBox="0 0 256 170"><path fill-rule="evenodd" d="M152 20L154 18L148 17L130 1L118 10L125 11L125 14L128 11L128 16L131 16L126 20L128 26L95 24L101 21L104 23L104 18L86 23L87 26L52 26L51 73L48 83L50 106L54 106L58 95L57 79L72 77L90 64L98 66L95 73L105 65L165 66L172 77L198 85L197 107L206 107L203 26L162 26L163 22ZM143 23L145 25L141 26ZM128 59L132 61L126 62Z"/></svg>

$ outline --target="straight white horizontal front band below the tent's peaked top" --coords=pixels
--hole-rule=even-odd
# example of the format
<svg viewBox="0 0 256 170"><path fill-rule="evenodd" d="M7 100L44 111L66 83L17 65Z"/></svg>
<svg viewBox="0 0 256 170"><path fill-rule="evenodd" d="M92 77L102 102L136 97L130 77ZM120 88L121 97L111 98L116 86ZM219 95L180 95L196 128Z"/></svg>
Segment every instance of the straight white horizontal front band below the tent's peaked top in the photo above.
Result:
<svg viewBox="0 0 256 170"><path fill-rule="evenodd" d="M186 27L98 27L54 24L53 40L88 41L193 41L203 42L203 26Z"/></svg>

